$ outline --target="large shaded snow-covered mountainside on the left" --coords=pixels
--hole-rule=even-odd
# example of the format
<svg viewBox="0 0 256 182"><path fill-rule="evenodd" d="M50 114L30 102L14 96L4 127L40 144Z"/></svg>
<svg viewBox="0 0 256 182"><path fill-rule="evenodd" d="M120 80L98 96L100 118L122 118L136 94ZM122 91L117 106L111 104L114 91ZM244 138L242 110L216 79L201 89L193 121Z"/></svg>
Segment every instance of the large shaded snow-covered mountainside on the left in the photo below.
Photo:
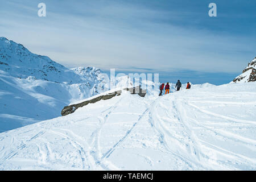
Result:
<svg viewBox="0 0 256 182"><path fill-rule="evenodd" d="M68 69L0 38L0 132L55 118L70 102L106 91L94 67Z"/></svg>

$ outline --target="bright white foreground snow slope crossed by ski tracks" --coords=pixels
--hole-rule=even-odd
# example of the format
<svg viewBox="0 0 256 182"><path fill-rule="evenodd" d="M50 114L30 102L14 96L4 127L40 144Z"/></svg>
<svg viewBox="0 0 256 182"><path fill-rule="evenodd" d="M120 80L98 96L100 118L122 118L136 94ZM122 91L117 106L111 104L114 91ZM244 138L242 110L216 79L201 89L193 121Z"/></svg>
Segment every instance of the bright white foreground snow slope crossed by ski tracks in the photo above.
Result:
<svg viewBox="0 0 256 182"><path fill-rule="evenodd" d="M128 93L0 134L0 169L255 170L256 83Z"/></svg>

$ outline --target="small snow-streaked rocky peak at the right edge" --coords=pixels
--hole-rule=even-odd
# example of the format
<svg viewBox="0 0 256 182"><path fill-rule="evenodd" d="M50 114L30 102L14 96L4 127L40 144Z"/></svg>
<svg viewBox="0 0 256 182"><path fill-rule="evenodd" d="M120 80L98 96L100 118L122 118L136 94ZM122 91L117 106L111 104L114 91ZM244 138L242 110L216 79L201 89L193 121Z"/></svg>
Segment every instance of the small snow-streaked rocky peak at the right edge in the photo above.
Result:
<svg viewBox="0 0 256 182"><path fill-rule="evenodd" d="M248 66L243 69L241 75L234 78L232 82L250 82L256 81L256 57L248 63Z"/></svg>

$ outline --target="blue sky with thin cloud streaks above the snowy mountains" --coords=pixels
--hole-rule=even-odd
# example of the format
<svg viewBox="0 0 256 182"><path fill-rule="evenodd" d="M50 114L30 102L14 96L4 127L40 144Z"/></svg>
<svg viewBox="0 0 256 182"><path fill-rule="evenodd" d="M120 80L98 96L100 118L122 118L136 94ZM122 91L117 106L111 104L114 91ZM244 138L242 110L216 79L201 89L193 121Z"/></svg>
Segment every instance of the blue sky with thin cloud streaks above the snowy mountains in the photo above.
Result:
<svg viewBox="0 0 256 182"><path fill-rule="evenodd" d="M38 4L46 4L46 17ZM209 17L209 3L217 17ZM3 1L0 36L68 68L224 84L256 56L256 1Z"/></svg>

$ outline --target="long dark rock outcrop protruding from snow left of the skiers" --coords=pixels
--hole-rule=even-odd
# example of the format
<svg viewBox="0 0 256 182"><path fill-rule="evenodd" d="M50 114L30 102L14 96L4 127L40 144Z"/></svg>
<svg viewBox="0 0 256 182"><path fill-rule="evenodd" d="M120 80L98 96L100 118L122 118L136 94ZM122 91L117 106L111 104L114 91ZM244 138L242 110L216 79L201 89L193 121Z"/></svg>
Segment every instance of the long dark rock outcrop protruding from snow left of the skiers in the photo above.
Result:
<svg viewBox="0 0 256 182"><path fill-rule="evenodd" d="M123 90L127 90L127 91L129 90L131 94L138 94L141 97L144 97L146 95L146 90L143 90L141 88L141 85L136 86L134 88L125 88ZM63 110L61 111L61 115L64 116L64 115L71 114L71 113L75 112L76 109L79 108L79 107L86 106L89 103L93 104L93 103L98 102L100 100L108 100L112 97L120 96L121 93L122 93L122 90L118 90L116 92L109 93L109 94L106 94L104 96L98 96L96 98L93 98L92 100L84 101L84 102L81 102L79 104L73 104L73 105L65 106L63 108Z"/></svg>

